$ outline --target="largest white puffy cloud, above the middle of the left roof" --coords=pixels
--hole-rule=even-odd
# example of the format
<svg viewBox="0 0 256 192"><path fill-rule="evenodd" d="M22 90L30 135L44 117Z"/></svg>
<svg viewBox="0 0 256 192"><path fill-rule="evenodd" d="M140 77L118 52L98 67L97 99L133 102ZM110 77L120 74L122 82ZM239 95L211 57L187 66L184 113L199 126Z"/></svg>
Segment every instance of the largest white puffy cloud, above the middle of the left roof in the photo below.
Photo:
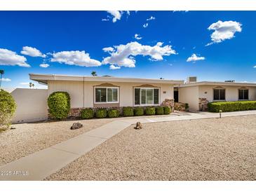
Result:
<svg viewBox="0 0 256 192"><path fill-rule="evenodd" d="M116 64L119 67L135 67L135 56L149 56L150 60L163 60L163 56L177 54L172 46L163 46L163 43L156 43L155 46L143 46L136 41L126 45L114 46L109 57L105 57L102 64Z"/></svg>

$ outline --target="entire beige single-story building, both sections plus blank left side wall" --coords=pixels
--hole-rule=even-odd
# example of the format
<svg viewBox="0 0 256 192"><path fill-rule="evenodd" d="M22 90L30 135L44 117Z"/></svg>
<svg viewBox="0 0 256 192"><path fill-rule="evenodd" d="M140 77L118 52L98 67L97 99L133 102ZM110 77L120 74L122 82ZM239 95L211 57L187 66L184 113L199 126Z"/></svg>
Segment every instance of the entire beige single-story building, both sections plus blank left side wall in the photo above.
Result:
<svg viewBox="0 0 256 192"><path fill-rule="evenodd" d="M66 91L71 97L71 116L87 107L138 107L189 104L190 111L207 109L208 102L256 100L256 83L197 82L180 80L119 78L112 76L65 76L29 74L31 80L48 89L17 88L11 92L17 110L13 123L42 121L48 118L47 98L52 92ZM177 104L179 105L179 104Z"/></svg>

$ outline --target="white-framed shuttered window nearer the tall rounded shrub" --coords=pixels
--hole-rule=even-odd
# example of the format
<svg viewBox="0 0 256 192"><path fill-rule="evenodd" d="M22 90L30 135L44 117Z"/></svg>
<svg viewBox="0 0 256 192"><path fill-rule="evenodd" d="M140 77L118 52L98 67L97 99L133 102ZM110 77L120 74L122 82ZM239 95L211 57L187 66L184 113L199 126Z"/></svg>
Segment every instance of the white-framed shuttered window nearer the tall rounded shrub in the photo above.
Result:
<svg viewBox="0 0 256 192"><path fill-rule="evenodd" d="M119 88L95 88L95 103L119 102Z"/></svg>

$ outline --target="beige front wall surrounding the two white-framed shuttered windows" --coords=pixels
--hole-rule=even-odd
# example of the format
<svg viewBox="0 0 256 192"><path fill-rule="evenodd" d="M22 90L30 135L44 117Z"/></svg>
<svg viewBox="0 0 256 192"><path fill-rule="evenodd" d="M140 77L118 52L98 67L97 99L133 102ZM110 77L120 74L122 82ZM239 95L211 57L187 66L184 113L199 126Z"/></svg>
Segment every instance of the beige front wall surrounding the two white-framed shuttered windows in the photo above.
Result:
<svg viewBox="0 0 256 192"><path fill-rule="evenodd" d="M48 81L48 95L55 91L67 91L71 97L71 107L93 107L93 86L101 85L105 82L88 82L85 81ZM120 107L133 106L133 88L144 85L144 83L111 83L119 86L119 103ZM173 85L152 83L160 88L160 102L165 99L173 99ZM83 101L84 92L84 101ZM166 93L163 93L166 92Z"/></svg>

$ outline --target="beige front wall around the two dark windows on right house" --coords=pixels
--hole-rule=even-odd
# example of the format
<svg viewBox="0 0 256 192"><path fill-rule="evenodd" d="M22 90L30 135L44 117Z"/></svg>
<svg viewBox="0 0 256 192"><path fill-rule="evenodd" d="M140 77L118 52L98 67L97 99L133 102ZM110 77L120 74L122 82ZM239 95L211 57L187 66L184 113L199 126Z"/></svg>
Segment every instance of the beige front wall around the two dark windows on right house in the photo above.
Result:
<svg viewBox="0 0 256 192"><path fill-rule="evenodd" d="M213 102L213 89L216 85L201 85L199 86L199 97L206 98L209 102ZM226 92L226 101L238 101L238 89L242 88L241 86L221 86L225 88ZM248 88L249 90L249 100L256 100L256 88L255 87L243 87Z"/></svg>

